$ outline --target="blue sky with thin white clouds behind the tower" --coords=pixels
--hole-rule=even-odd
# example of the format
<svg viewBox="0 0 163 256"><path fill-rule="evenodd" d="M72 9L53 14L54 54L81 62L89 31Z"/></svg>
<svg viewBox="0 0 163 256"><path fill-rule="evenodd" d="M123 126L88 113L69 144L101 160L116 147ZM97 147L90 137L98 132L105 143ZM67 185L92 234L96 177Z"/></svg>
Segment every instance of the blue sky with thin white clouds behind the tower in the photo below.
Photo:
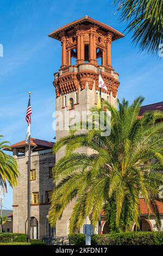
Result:
<svg viewBox="0 0 163 256"><path fill-rule="evenodd" d="M114 0L0 0L0 120L1 134L11 143L26 136L28 91L32 92L32 137L53 141L52 113L55 109L53 73L61 65L60 42L48 33L68 22L89 15L118 31ZM120 74L118 97L130 102L138 95L145 105L162 101L163 62L140 54L131 45L131 34L112 43L112 66ZM12 208L12 190L4 197L4 209Z"/></svg>

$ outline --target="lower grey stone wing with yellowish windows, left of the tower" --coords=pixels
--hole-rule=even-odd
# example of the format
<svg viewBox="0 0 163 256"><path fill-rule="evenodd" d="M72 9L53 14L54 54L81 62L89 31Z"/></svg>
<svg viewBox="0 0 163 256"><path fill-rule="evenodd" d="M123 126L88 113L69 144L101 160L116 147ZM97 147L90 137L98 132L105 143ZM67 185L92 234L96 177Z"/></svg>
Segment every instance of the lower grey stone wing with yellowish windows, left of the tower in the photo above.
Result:
<svg viewBox="0 0 163 256"><path fill-rule="evenodd" d="M30 169L30 237L54 236L48 223L50 197L54 188L52 168L55 156L53 142L31 138ZM13 189L13 232L27 234L28 145L21 141L11 145L20 175Z"/></svg>

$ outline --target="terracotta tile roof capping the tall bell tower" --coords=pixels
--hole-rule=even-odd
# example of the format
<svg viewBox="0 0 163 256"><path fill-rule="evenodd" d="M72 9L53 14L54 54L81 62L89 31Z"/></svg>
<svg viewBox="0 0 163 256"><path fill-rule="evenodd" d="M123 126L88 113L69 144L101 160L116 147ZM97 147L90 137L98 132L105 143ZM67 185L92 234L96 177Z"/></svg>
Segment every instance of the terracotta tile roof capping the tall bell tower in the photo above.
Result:
<svg viewBox="0 0 163 256"><path fill-rule="evenodd" d="M112 33L113 34L113 37L112 37L113 41L116 40L116 39L122 38L124 36L121 32L118 32L116 29L106 25L105 23L103 23L101 21L94 20L94 19L88 17L87 15L85 15L85 17L83 17L79 20L70 22L70 23L56 29L55 31L50 33L49 36L52 37L52 38L60 40L60 38L59 38L60 32L66 31L66 30L68 30L70 28L73 28L74 26L79 25L79 24L84 23L84 22L92 23L92 24L98 26L99 28L101 27L101 28L105 29L105 31L108 31L108 32Z"/></svg>

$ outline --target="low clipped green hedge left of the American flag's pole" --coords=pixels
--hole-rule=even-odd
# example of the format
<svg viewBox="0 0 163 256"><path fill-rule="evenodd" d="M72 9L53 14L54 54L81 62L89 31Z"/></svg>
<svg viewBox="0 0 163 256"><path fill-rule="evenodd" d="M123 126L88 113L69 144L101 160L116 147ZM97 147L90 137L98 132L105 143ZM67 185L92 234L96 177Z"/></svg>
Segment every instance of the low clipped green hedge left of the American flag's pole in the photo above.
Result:
<svg viewBox="0 0 163 256"><path fill-rule="evenodd" d="M0 243L1 242L27 242L27 235L17 233L1 233Z"/></svg>

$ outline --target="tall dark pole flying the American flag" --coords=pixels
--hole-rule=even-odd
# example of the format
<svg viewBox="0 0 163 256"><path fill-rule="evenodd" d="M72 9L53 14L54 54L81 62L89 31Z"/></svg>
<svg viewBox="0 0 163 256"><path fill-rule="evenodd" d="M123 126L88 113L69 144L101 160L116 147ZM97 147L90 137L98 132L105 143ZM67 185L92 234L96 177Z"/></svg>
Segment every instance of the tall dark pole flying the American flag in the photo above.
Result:
<svg viewBox="0 0 163 256"><path fill-rule="evenodd" d="M30 99L30 92L29 92ZM30 135L28 142L28 242L30 242Z"/></svg>

